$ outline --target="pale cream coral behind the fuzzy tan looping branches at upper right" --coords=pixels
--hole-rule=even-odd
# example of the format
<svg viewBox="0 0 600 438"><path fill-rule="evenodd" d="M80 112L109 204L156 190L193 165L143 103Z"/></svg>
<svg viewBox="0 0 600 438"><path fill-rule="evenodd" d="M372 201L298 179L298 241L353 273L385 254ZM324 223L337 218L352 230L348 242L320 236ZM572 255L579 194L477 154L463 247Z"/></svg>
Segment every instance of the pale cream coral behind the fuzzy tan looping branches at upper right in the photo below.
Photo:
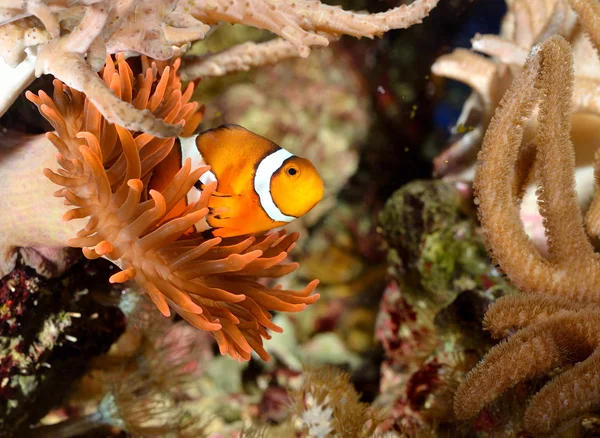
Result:
<svg viewBox="0 0 600 438"><path fill-rule="evenodd" d="M594 152L600 137L600 62L590 41L595 30L594 4L588 0L507 1L500 35L476 34L474 51L456 49L434 63L440 76L471 86L473 92L453 128L450 146L434 160L435 172L448 179L472 180L476 155L500 98L518 76L531 48L547 37L562 35L573 46L575 85L572 95L571 139L576 150L576 188L579 205L585 209L593 195ZM579 12L578 12L579 11ZM578 15L576 15L576 12ZM536 117L526 126L523 142L529 143ZM544 227L536 203L536 181L530 178L521 203L521 218L527 234L545 251Z"/></svg>

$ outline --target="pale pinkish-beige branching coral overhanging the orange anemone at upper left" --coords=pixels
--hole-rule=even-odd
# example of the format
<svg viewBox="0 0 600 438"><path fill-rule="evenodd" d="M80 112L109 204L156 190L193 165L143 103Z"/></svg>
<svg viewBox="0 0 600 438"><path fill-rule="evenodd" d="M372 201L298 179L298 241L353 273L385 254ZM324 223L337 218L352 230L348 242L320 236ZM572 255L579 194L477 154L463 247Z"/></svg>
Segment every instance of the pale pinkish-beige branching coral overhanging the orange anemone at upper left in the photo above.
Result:
<svg viewBox="0 0 600 438"><path fill-rule="evenodd" d="M375 15L343 11L317 0L4 2L7 6L0 9L0 26L5 33L0 40L0 57L6 65L0 65L0 71L13 76L17 72L12 69L20 67L27 75L18 73L21 80L15 79L11 87L3 90L0 114L33 80L35 65L37 76L52 74L84 92L108 121L130 130L169 137L179 133L181 127L119 101L98 81L92 70L102 67L107 53L128 52L167 60L180 55L186 43L204 38L210 26L219 21L268 29L287 41L266 43L260 50L247 45L212 58L208 71L227 71L232 66L248 68L289 57L290 45L307 56L311 46L326 46L330 38L338 35L373 37L390 29L409 27L421 22L437 2L416 0L410 6ZM38 20L43 26L38 25ZM188 76L192 77L194 71L205 73L207 69L195 65L190 67Z"/></svg>

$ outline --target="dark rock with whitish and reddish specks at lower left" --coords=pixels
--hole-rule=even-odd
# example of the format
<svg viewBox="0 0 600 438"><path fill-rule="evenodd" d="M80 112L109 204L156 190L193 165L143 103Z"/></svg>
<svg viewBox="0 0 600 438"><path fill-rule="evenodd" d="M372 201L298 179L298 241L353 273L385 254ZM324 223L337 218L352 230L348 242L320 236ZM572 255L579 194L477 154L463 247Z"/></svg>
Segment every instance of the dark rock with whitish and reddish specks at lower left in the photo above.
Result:
<svg viewBox="0 0 600 438"><path fill-rule="evenodd" d="M121 287L91 286L104 273L88 264L53 280L18 267L0 280L0 436L28 436L123 332L121 311L96 300Z"/></svg>

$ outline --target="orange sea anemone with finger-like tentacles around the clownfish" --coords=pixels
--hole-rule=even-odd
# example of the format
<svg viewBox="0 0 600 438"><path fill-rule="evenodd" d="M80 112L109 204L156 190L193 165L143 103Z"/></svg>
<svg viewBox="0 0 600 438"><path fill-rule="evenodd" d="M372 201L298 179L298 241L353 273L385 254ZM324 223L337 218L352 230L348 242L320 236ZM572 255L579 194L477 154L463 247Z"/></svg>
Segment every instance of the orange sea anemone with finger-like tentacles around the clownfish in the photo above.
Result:
<svg viewBox="0 0 600 438"><path fill-rule="evenodd" d="M167 122L185 122L184 131L193 131L200 113L196 103L188 102L193 86L180 91L178 65L159 69L152 63L134 77L121 55L116 63L109 58L101 75L123 101ZM88 258L113 260L123 270L112 282L134 279L164 315L172 308L192 325L211 331L222 354L248 360L256 351L267 360L262 338L270 337L267 329L281 331L270 312L300 311L319 298L311 295L317 281L300 292L258 281L296 269L297 264L282 262L298 235L282 231L207 240L186 234L207 214L214 186L183 213L174 216L172 209L207 167L191 169L186 161L164 190L150 190L146 199L152 169L170 152L174 139L108 123L82 93L57 80L52 98L43 92L28 97L56 129L48 138L58 150L60 168L44 174L54 183L46 184L63 187L55 195L74 207L63 220L87 219L83 227L78 221L81 229L68 244L82 248ZM44 218L48 223L52 219Z"/></svg>

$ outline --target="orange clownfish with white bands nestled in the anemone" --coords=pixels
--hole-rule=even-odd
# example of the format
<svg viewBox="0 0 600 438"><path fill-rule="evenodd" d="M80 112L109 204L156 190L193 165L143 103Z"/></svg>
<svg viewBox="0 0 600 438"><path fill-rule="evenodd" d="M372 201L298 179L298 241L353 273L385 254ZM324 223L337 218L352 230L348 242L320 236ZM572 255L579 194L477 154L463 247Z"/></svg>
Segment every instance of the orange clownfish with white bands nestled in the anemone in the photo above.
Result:
<svg viewBox="0 0 600 438"><path fill-rule="evenodd" d="M208 230L206 224L195 226L215 237L257 234L286 225L323 197L323 181L309 160L231 124L180 137L169 157L155 168L150 188L165 187L187 158L192 169L210 166L187 193L187 204L196 202L206 185L217 183L205 218Z"/></svg>

